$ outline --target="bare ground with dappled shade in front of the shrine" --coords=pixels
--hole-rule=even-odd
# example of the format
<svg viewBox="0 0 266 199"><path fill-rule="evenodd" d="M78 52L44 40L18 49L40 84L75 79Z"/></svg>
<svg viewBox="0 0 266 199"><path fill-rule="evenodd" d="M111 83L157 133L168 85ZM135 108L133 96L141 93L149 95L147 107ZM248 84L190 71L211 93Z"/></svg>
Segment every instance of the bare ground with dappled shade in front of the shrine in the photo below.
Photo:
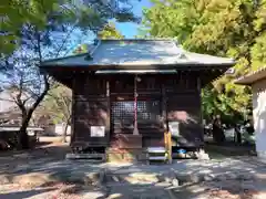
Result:
<svg viewBox="0 0 266 199"><path fill-rule="evenodd" d="M266 166L254 158L241 157L241 160L219 158L219 161L198 163L178 161L175 165L93 165L86 161L65 161L70 151L68 144L58 137L42 137L34 150L0 153L0 199L263 199L266 198ZM237 159L237 157L234 157ZM140 179L109 180L103 186L84 186L83 176L99 168L112 170L114 176L143 172ZM170 184L154 181L154 174L171 169L180 172L208 170L223 174L253 172L256 179L226 179L196 181L173 187ZM59 178L60 176L60 178ZM222 175L223 176L223 175ZM146 179L144 179L146 178ZM147 179L149 178L149 179ZM139 180L139 181L137 181ZM150 182L149 182L150 180ZM146 181L146 182L144 182Z"/></svg>

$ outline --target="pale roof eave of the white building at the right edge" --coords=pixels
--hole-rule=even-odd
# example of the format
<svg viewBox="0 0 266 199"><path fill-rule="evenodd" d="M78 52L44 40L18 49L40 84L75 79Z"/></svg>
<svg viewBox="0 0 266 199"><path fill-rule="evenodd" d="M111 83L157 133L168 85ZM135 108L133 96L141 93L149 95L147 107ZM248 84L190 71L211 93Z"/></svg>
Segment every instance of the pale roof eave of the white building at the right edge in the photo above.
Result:
<svg viewBox="0 0 266 199"><path fill-rule="evenodd" d="M250 85L264 78L266 78L266 66L242 76L241 78L236 80L235 83L242 85Z"/></svg>

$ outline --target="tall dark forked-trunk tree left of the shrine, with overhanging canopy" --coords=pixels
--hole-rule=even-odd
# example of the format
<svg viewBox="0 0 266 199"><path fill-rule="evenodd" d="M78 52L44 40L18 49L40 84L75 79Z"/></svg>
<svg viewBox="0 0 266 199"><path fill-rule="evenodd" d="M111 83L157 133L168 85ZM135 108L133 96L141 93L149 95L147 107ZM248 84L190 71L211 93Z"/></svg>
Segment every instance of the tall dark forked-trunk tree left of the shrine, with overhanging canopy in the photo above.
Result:
<svg viewBox="0 0 266 199"><path fill-rule="evenodd" d="M21 148L29 148L27 127L34 109L50 90L52 81L48 74L39 70L43 59L71 53L72 46L76 46L91 33L102 30L110 19L134 21L134 15L117 3L120 1L124 2L123 0L16 0L9 4L3 1L6 4L1 11L4 11L2 13L6 14L7 20L1 23L3 32L1 50L9 48L10 43L16 44L16 48L9 53L1 51L1 67L9 69L4 71L6 78L2 83L6 87L14 88L17 93L14 101L22 113L19 134ZM21 20L17 22L16 11L20 9ZM10 40L2 42L6 39ZM30 93L29 98L32 103L29 106L25 106L29 100L21 98L22 93Z"/></svg>

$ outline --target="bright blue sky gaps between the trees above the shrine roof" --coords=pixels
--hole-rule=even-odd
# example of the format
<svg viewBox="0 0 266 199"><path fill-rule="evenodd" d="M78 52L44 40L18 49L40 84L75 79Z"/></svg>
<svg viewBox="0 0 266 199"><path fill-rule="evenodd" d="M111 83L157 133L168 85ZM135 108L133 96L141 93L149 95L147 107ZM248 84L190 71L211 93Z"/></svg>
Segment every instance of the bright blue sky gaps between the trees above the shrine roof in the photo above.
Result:
<svg viewBox="0 0 266 199"><path fill-rule="evenodd" d="M150 0L133 0L133 12L141 17L143 8L150 8L152 3ZM134 38L137 34L139 24L136 23L115 23L116 29L125 36L125 38Z"/></svg>

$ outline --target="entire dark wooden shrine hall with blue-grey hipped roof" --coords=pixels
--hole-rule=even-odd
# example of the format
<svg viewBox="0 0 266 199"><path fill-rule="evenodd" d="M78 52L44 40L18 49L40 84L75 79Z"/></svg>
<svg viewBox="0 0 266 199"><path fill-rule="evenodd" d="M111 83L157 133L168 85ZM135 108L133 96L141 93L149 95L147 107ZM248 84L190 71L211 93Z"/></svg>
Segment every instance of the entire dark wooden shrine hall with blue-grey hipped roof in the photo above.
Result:
<svg viewBox="0 0 266 199"><path fill-rule="evenodd" d="M72 88L71 146L92 153L203 146L201 90L235 62L183 50L173 40L95 40L88 53L40 66Z"/></svg>

